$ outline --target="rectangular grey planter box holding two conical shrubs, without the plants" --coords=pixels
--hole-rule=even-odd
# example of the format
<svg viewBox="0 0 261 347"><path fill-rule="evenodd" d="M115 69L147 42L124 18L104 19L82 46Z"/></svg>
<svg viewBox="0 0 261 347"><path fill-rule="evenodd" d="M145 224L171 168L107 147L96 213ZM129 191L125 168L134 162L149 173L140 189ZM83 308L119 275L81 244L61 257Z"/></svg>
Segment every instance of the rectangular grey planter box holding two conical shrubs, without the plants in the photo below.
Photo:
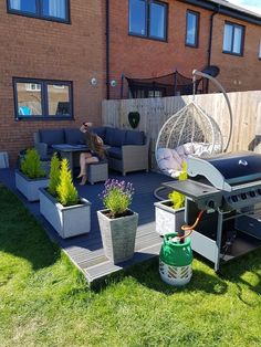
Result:
<svg viewBox="0 0 261 347"><path fill-rule="evenodd" d="M40 189L40 212L63 239L91 230L91 202L83 198L81 202L63 207L45 189Z"/></svg>

